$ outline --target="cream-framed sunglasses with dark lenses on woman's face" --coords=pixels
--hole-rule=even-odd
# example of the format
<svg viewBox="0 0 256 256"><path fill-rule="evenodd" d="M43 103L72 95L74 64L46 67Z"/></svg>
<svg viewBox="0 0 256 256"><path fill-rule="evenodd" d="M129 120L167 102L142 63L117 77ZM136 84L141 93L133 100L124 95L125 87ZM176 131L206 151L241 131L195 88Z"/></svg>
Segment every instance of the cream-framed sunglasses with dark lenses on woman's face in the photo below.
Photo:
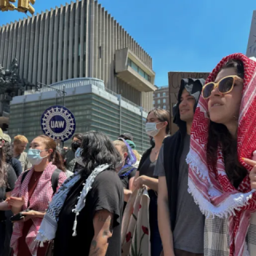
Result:
<svg viewBox="0 0 256 256"><path fill-rule="evenodd" d="M237 75L229 75L226 78L222 78L219 82L208 82L202 87L202 97L209 98L215 88L218 88L218 91L222 94L228 94L233 90L236 81L242 82L243 80Z"/></svg>

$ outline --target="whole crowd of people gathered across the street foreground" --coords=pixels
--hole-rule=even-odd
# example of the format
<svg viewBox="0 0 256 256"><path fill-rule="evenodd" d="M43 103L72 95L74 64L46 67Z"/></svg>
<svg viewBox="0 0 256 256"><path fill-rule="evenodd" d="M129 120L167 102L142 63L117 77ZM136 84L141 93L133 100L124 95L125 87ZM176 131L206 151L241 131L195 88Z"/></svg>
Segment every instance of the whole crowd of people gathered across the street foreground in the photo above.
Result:
<svg viewBox="0 0 256 256"><path fill-rule="evenodd" d="M151 110L142 155L129 133L0 130L0 256L256 255L256 62L222 58L177 99L178 131Z"/></svg>

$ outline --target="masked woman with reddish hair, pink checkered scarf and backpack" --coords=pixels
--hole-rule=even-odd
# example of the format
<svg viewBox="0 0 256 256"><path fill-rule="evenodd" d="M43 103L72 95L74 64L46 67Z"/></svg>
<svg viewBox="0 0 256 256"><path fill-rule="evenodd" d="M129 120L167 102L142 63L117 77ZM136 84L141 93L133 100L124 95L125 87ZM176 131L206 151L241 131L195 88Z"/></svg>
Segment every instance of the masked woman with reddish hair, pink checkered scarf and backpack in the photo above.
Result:
<svg viewBox="0 0 256 256"><path fill-rule="evenodd" d="M28 158L32 168L19 176L11 197L6 199L14 214L22 212L24 215L14 223L10 246L14 256L44 256L47 246L39 247L35 238L54 190L66 180L65 167L56 143L45 135L31 142ZM57 176L55 185L52 184L53 174Z"/></svg>

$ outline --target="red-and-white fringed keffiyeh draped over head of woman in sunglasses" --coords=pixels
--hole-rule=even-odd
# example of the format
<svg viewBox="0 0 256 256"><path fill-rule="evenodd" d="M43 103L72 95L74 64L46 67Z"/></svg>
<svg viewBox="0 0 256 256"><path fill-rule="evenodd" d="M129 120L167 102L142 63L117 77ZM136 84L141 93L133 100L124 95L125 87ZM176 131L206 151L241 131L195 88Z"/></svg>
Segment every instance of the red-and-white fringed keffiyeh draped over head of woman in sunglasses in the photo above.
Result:
<svg viewBox="0 0 256 256"><path fill-rule="evenodd" d="M231 54L214 68L206 80L214 82L222 66L230 59L241 60L244 65L244 88L238 118L238 159L242 166L251 170L242 158L252 158L256 150L256 62L243 54ZM190 136L189 191L206 217L218 216L228 219L230 234L230 256L242 256L246 253L246 234L250 225L250 213L256 210L256 194L250 190L249 175L238 189L231 185L227 178L222 149L218 148L218 160L207 165L206 143L210 119L207 114L207 100L199 98L194 114Z"/></svg>

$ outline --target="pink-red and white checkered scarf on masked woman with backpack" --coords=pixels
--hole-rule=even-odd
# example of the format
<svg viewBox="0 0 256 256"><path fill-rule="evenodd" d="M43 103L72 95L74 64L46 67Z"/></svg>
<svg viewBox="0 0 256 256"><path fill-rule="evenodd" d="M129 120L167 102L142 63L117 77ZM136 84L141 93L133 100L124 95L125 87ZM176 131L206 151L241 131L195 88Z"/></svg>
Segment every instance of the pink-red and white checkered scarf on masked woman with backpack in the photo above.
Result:
<svg viewBox="0 0 256 256"><path fill-rule="evenodd" d="M43 171L42 176L38 180L38 185L36 186L34 193L30 198L30 209L36 211L46 211L48 208L49 202L53 197L53 189L51 184L51 176L56 170L57 167L50 162L48 166L46 166L46 170ZM22 182L22 174L19 176L18 181L15 184L15 188L12 191L13 197L22 197L25 198L25 205L22 207L22 210L26 210L28 208L29 202L29 193L28 193L28 185L30 182L30 178L34 173L34 167L31 168L29 173L26 175ZM58 187L62 185L62 182L66 180L66 174L61 172L58 177ZM30 227L30 231L26 236L26 244L30 249L30 253L32 256L37 254L38 250L38 242L35 242L35 238L38 234L38 230L40 228L42 218L32 218L33 226ZM14 256L18 254L18 238L22 237L22 229L24 226L24 222L15 222L14 223L14 231L11 237L10 246L14 249Z"/></svg>

